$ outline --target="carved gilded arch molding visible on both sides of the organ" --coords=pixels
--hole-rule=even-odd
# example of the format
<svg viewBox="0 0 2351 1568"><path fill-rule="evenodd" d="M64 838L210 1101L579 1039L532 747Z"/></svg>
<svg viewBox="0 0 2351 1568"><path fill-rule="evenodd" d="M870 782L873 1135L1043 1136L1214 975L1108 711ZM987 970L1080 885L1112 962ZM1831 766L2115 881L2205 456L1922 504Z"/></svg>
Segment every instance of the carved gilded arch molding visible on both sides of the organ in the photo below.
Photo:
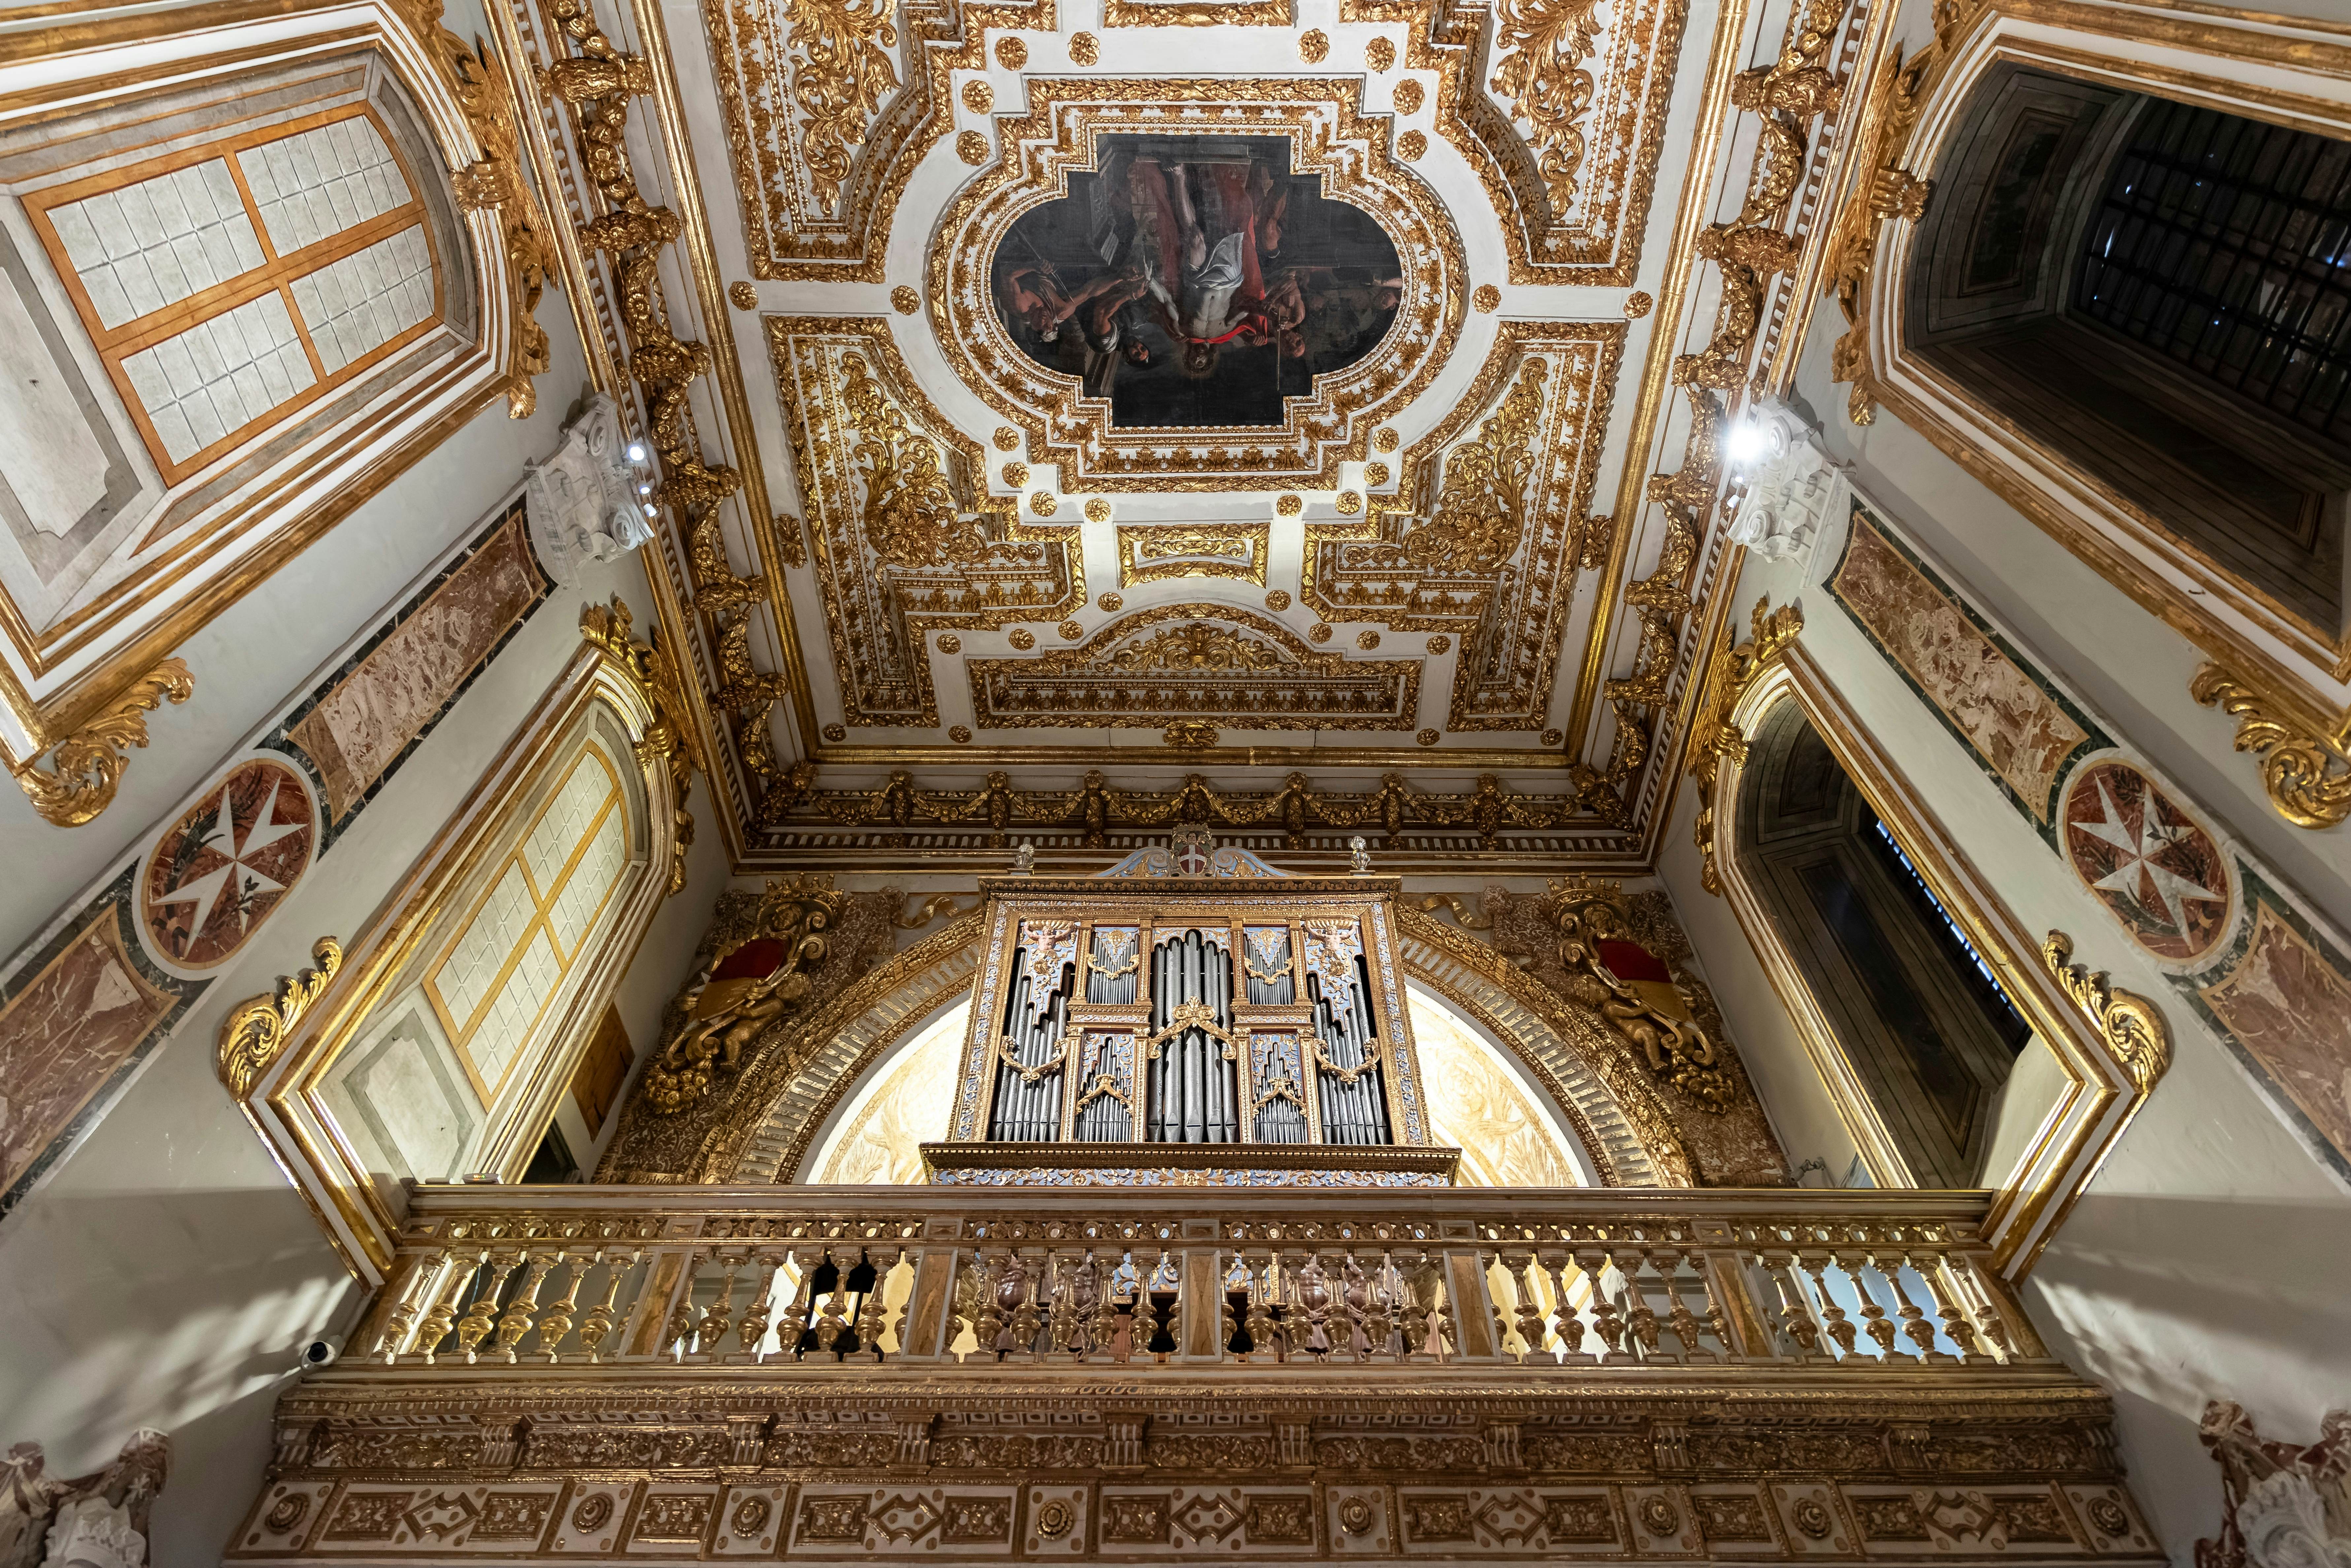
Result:
<svg viewBox="0 0 2351 1568"><path fill-rule="evenodd" d="M1396 933L1406 976L1519 1058L1603 1185L1695 1185L1695 1161L1669 1112L1596 1020L1427 914L1396 910ZM980 917L966 914L877 964L813 1018L762 1041L736 1091L736 1110L703 1143L686 1180L795 1180L858 1079L969 990L980 936Z"/></svg>

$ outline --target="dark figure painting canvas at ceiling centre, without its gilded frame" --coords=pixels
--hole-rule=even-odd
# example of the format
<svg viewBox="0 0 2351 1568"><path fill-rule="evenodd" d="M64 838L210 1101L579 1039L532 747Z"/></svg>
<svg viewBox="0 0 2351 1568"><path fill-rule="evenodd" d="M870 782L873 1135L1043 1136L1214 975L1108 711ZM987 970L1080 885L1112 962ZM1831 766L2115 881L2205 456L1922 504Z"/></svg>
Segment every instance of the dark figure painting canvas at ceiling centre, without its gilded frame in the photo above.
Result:
<svg viewBox="0 0 2351 1568"><path fill-rule="evenodd" d="M1371 214L1291 174L1281 136L1103 136L1100 169L1023 214L992 263L1020 348L1112 428L1279 425L1404 294Z"/></svg>

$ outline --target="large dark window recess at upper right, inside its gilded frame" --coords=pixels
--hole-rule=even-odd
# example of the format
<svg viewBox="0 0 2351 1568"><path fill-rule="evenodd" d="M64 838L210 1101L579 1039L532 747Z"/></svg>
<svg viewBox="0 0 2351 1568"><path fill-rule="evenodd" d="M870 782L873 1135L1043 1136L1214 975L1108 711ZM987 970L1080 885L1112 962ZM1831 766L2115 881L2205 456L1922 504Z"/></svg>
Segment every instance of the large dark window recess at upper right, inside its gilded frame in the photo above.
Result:
<svg viewBox="0 0 2351 1568"><path fill-rule="evenodd" d="M2351 143L2005 63L1933 169L1916 360L2337 642Z"/></svg>

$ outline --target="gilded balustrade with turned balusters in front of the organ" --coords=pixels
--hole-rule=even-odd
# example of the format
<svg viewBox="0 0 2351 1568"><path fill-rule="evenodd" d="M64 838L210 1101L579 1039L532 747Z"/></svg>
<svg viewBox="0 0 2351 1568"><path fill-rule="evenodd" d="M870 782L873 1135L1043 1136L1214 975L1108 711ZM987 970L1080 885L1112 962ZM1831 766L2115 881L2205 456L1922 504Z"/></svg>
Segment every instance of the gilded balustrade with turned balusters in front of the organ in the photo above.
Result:
<svg viewBox="0 0 2351 1568"><path fill-rule="evenodd" d="M426 1187L379 1366L2048 1366L1965 1192Z"/></svg>

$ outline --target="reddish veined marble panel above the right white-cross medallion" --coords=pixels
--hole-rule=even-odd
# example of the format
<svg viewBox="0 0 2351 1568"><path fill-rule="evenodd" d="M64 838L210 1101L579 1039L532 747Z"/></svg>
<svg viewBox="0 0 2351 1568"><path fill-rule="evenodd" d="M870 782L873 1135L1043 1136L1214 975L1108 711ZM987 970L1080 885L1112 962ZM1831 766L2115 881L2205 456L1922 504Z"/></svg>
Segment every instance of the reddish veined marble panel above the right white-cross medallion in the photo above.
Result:
<svg viewBox="0 0 2351 1568"><path fill-rule="evenodd" d="M2048 832L2057 783L2090 731L1860 503L1829 592ZM2102 738L2099 738L2102 741Z"/></svg>

